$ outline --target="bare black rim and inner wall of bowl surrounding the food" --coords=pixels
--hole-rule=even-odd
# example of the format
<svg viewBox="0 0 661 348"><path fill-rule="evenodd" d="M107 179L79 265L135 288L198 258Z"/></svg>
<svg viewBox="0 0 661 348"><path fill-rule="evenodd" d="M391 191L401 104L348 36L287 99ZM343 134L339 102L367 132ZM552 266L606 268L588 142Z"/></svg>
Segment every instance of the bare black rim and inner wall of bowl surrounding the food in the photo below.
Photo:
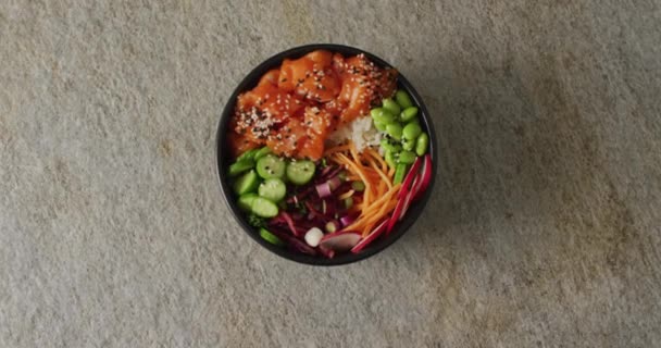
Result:
<svg viewBox="0 0 661 348"><path fill-rule="evenodd" d="M420 216L422 210L425 208L427 201L429 200L429 197L432 196L432 190L434 188L434 176L436 174L436 167L437 167L436 163L438 162L438 154L437 154L437 149L436 149L436 135L434 132L434 126L432 125L432 120L429 117L427 108L423 103L422 98L420 97L417 91L415 91L415 88L413 88L413 86L411 86L409 80L401 73L399 73L398 78L397 78L398 88L403 89L407 92L409 92L409 95L413 99L414 103L417 105L417 108L421 111L419 113L421 125L422 125L423 129L425 132L427 132L427 134L429 135L429 153L432 153L432 160L433 160L433 169L432 169L433 177L432 177L432 183L429 184L427 190L424 192L422 199L417 200L416 202L414 202L410 206L409 211L407 212L404 219L397 223L397 225L395 226L392 232L387 237L385 237L385 236L379 237L377 240L373 241L369 247L363 249L360 253L349 252L349 253L338 254L333 259L326 259L323 257L312 257L312 256L303 254L300 252L290 251L286 248L274 246L274 245L267 243L266 240L262 239L259 236L257 228L248 225L244 212L241 212L239 210L239 208L236 203L237 197L233 192L232 186L229 184L227 169L228 169L229 164L232 164L232 159L229 158L229 149L225 145L225 135L227 134L229 119L232 117L232 114L234 112L237 96L246 90L253 88L257 85L257 83L259 82L260 77L264 73L266 73L271 69L274 69L274 67L280 65L283 60L286 58L296 59L296 58L302 57L311 51L319 50L319 49L324 49L324 50L328 50L332 52L339 52L345 57L364 53L372 62L374 62L374 64L377 64L377 65L381 65L384 67L391 66L390 64L386 63L381 58L378 58L372 53L365 52L363 50L360 50L360 49L357 49L353 47L342 46L342 45L329 45L329 44L319 44L319 45L308 45L308 46L296 47L296 48L289 49L287 51L277 53L277 54L271 57L270 59L265 60L263 63L259 64L255 69L253 69L250 72L250 74L248 74L248 76L246 76L246 78L244 78L244 80L241 80L241 83L236 87L236 89L234 90L232 96L229 96L229 99L227 100L227 104L225 105L225 109L223 110L223 113L221 114L221 120L219 123L219 128L217 128L217 134L216 134L217 174L219 174L219 178L221 181L221 190L223 194L223 198L225 199L225 202L229 207L229 210L232 211L232 213L238 221L239 225L244 228L244 231L246 231L246 233L250 237L252 237L252 239L257 240L257 243L259 243L262 247L269 249L270 251L272 251L274 253L277 253L278 256L280 256L285 259L289 259L289 260L300 262L300 263L315 264L315 265L338 265L338 264L346 264L346 263L360 261L360 260L366 259L366 258L384 250L385 248L387 248L388 246L394 244L397 239L399 239L411 227L411 225L413 225L415 220L417 220L417 217Z"/></svg>

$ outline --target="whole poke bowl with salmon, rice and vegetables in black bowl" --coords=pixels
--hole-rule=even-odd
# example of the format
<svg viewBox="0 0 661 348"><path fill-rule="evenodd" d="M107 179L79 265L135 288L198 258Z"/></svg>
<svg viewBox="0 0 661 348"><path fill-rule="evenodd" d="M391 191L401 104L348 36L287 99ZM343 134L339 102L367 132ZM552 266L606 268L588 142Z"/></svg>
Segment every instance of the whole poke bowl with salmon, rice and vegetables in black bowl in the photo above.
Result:
<svg viewBox="0 0 661 348"><path fill-rule="evenodd" d="M436 174L436 136L413 86L363 50L296 47L254 67L221 114L216 169L241 228L300 263L339 265L392 245Z"/></svg>

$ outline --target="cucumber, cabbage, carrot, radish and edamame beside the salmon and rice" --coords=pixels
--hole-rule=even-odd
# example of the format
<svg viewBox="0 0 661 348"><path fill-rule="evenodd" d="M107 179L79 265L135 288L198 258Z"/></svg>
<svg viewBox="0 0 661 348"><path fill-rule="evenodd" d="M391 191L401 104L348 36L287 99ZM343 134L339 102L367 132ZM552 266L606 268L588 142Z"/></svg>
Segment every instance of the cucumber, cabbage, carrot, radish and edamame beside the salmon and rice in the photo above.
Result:
<svg viewBox="0 0 661 348"><path fill-rule="evenodd" d="M333 258L360 252L403 219L432 179L429 138L404 91L371 114L384 133L381 148L359 152L347 140L317 161L278 157L269 147L236 159L229 176L238 207L263 239Z"/></svg>

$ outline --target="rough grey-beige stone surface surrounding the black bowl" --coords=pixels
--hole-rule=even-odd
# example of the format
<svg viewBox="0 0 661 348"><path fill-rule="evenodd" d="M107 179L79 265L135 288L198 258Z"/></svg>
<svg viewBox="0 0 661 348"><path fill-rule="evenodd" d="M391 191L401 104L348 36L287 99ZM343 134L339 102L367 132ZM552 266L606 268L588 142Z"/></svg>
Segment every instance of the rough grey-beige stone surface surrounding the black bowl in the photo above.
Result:
<svg viewBox="0 0 661 348"><path fill-rule="evenodd" d="M660 8L0 2L0 346L658 346ZM399 66L444 149L414 228L333 269L214 174L234 86L324 41Z"/></svg>

